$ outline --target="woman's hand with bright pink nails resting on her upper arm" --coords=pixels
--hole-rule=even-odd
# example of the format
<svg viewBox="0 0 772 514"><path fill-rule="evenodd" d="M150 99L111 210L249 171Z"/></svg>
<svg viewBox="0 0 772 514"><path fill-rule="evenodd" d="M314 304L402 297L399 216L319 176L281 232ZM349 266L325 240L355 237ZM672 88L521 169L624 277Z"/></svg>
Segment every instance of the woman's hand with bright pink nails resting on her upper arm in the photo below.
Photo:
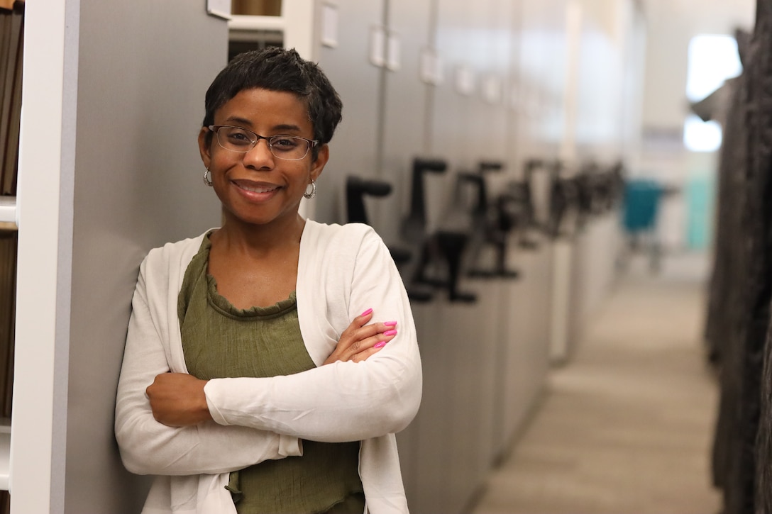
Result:
<svg viewBox="0 0 772 514"><path fill-rule="evenodd" d="M327 357L324 364L332 364L338 360L361 362L381 351L386 343L397 335L396 321L373 323L367 325L373 317L373 309L354 318L354 321L340 334L340 340L335 350Z"/></svg>

